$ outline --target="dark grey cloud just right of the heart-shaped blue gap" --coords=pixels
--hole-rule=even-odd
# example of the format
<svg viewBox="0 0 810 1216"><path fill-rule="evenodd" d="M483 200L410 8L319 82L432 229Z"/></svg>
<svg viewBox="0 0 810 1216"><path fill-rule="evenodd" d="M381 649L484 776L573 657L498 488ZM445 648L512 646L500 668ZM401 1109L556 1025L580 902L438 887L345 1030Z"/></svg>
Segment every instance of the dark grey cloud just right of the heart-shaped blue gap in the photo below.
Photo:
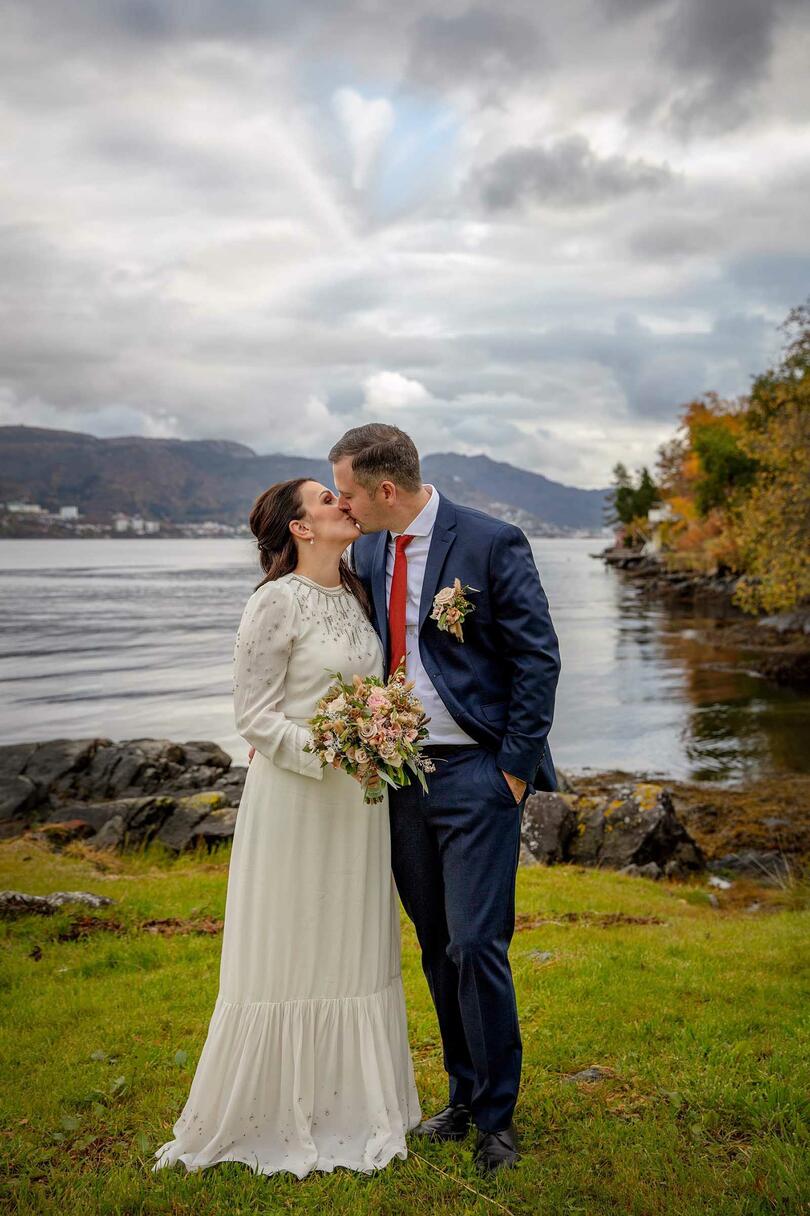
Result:
<svg viewBox="0 0 810 1216"><path fill-rule="evenodd" d="M569 135L546 147L504 152L473 175L473 188L491 212L540 203L549 207L591 207L637 191L669 185L668 165L598 157L583 135Z"/></svg>

